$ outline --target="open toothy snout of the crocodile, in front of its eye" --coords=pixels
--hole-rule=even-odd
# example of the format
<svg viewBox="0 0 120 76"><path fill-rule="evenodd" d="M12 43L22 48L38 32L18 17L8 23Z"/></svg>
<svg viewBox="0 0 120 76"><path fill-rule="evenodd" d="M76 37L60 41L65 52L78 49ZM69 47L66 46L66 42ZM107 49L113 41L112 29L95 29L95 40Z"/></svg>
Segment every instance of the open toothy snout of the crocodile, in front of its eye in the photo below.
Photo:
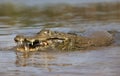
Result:
<svg viewBox="0 0 120 76"><path fill-rule="evenodd" d="M17 50L22 52L36 51L40 46L44 47L47 45L45 41L40 41L32 37L24 37L22 35L17 35L14 40L17 43Z"/></svg>

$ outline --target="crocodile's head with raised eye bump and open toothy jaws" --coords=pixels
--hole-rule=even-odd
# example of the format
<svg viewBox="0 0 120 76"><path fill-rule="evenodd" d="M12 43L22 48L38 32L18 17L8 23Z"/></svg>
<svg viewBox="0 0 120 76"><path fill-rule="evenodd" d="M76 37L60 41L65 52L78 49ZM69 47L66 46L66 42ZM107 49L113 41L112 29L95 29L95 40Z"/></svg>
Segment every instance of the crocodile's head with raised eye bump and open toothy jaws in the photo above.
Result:
<svg viewBox="0 0 120 76"><path fill-rule="evenodd" d="M17 51L29 52L29 51L44 50L48 47L53 48L59 46L59 44L62 45L64 44L65 39L59 37L57 38L56 36L48 32L48 30L46 30L46 31L41 31L39 34L30 37L17 35L14 38L14 41L17 43L16 46Z"/></svg>

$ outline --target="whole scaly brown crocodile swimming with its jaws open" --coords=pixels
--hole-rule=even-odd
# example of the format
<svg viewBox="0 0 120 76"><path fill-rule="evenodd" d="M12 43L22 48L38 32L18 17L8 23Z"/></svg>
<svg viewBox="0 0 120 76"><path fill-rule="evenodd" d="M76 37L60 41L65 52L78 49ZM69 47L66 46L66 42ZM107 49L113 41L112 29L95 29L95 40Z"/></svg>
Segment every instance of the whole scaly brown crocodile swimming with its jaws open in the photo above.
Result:
<svg viewBox="0 0 120 76"><path fill-rule="evenodd" d="M95 31L89 36L41 30L34 36L17 35L16 50L20 52L41 51L47 49L80 50L89 47L108 46L113 42L107 31Z"/></svg>

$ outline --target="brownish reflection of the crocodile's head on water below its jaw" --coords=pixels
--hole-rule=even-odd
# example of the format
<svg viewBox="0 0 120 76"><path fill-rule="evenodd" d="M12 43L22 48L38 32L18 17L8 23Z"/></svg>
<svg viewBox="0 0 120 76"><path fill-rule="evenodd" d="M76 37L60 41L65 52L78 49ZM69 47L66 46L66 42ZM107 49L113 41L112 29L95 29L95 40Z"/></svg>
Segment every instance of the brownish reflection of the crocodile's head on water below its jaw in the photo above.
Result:
<svg viewBox="0 0 120 76"><path fill-rule="evenodd" d="M56 52L58 53L58 52ZM31 52L29 57L24 57L22 54L16 53L16 65L18 66L34 66L49 68L49 66L70 66L70 63L59 61L56 63L57 56L54 52Z"/></svg>

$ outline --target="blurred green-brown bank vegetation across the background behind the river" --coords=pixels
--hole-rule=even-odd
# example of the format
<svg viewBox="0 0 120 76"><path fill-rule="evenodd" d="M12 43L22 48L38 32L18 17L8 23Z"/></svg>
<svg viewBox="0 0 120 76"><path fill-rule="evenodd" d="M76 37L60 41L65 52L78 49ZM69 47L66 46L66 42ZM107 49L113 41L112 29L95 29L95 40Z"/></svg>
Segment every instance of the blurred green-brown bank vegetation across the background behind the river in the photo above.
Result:
<svg viewBox="0 0 120 76"><path fill-rule="evenodd" d="M82 5L54 4L41 7L38 5L1 3L0 22L10 25L16 25L16 23L32 25L46 21L67 21L71 19L120 21L120 2Z"/></svg>

